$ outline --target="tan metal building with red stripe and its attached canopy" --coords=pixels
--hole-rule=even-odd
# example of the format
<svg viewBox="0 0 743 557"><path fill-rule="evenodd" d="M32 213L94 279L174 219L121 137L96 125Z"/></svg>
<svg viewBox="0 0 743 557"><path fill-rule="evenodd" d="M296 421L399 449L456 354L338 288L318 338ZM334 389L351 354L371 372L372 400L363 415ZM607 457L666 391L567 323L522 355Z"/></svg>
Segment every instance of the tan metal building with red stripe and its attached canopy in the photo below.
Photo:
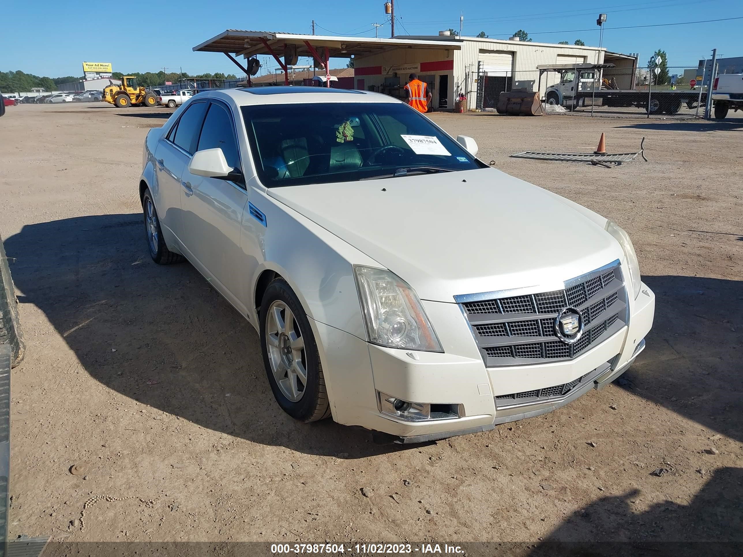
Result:
<svg viewBox="0 0 743 557"><path fill-rule="evenodd" d="M546 88L559 79L559 74L545 74L540 82L539 65L602 64L614 62L611 59L614 56L617 67L637 67L636 56L607 53L605 48L460 38L448 34L383 39L228 29L193 50L225 53L244 71L247 68L237 62L232 53L245 59L269 54L282 68L285 65L281 56L284 60L288 53L290 58L310 56L315 59L316 68L323 68L326 73L330 67L326 63L328 59L352 58L354 88L400 99L405 98L408 76L418 74L418 79L428 85L434 109L454 108L460 94L467 97L467 108L489 108L489 103L492 104L501 91L516 88L544 94ZM286 71L285 84L289 85ZM484 98L487 102L483 102Z"/></svg>

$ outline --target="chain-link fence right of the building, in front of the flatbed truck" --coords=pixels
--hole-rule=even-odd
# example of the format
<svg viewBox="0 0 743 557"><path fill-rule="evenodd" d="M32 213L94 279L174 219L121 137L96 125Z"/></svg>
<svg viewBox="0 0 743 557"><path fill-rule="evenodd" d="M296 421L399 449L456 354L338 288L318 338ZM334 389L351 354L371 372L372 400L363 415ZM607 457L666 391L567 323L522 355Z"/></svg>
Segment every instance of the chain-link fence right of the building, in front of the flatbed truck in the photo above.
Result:
<svg viewBox="0 0 743 557"><path fill-rule="evenodd" d="M562 68L493 71L478 65L476 108L497 111L504 91L539 91L547 114L607 117L694 118L704 116L707 84L692 66L664 68Z"/></svg>

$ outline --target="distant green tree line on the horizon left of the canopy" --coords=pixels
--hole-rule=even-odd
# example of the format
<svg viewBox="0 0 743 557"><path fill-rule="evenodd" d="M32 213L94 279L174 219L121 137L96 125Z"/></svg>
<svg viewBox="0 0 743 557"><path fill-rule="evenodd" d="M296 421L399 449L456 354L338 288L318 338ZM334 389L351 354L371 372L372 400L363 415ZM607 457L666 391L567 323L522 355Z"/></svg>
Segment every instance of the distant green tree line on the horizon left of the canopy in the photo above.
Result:
<svg viewBox="0 0 743 557"><path fill-rule="evenodd" d="M198 74L190 75L186 72L170 72L165 73L164 71L152 72L146 71L140 73L134 71L130 74L122 74L120 71L114 71L111 74L114 79L121 79L121 76L134 76L140 85L145 87L152 87L155 85L165 85L166 81L172 83L178 83L178 79L237 79L235 74L222 74L216 72L215 74ZM21 91L31 91L34 88L44 88L45 91L55 91L59 85L65 83L73 83L80 81L82 77L75 76L60 76L60 77L48 77L48 76L36 76L34 74L26 74L23 71L0 71L0 91L4 93L19 93Z"/></svg>

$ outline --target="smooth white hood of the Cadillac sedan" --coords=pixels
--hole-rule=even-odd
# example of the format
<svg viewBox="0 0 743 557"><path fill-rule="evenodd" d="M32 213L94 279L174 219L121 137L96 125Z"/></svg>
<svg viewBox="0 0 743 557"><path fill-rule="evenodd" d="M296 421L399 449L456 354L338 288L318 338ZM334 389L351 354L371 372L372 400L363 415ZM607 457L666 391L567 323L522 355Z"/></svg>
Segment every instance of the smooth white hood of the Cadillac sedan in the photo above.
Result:
<svg viewBox="0 0 743 557"><path fill-rule="evenodd" d="M622 258L594 221L496 169L279 187L269 195L392 270L421 299L554 290Z"/></svg>

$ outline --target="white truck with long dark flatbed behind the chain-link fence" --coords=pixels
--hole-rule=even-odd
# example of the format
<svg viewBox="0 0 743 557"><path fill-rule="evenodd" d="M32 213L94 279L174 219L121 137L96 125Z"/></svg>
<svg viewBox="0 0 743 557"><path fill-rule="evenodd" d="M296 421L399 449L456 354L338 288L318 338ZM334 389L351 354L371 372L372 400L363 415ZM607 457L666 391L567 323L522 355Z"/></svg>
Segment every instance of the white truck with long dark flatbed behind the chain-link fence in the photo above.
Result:
<svg viewBox="0 0 743 557"><path fill-rule="evenodd" d="M609 79L602 79L602 71L614 68L614 64L548 64L536 67L539 82L549 72L557 72L559 81L545 91L548 105L562 105L566 108L583 106L610 106L644 108L650 114L676 114L681 107L694 108L699 102L699 91L694 89L672 90L652 89L614 89ZM707 99L702 92L701 103Z"/></svg>

